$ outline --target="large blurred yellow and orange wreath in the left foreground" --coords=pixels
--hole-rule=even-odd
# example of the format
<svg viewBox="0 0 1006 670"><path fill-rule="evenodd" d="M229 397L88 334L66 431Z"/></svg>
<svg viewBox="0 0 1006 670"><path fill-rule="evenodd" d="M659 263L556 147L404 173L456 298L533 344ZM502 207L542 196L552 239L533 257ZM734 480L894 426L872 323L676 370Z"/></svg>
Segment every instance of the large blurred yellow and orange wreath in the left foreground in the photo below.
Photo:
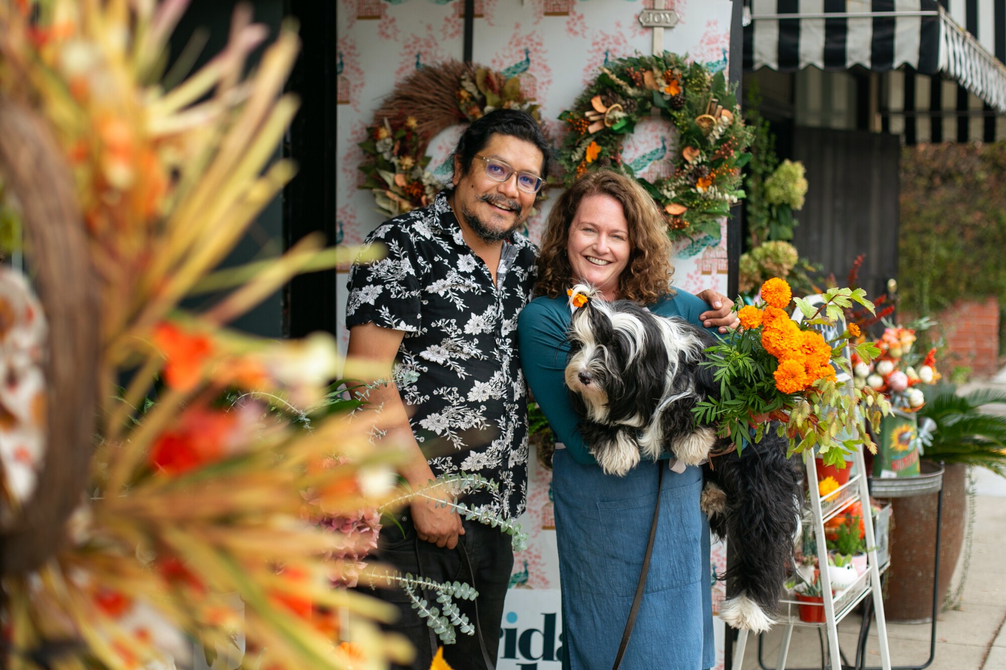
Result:
<svg viewBox="0 0 1006 670"><path fill-rule="evenodd" d="M95 392L78 398L95 404L94 444L9 449L0 437L0 533L65 494L33 485L39 466L44 475L61 454L95 450L79 504L56 519L59 541L23 569L6 558L24 547L0 546L0 664L189 667L193 642L211 662L238 640L264 669L407 663L407 643L376 625L394 609L333 588L361 575L374 510L394 498L395 450L376 450L370 427L347 414L356 400L332 395L334 338L266 341L224 327L297 272L354 250L309 237L280 259L214 272L294 173L273 157L297 109L283 93L296 27L284 25L245 76L268 30L239 6L225 50L165 89L165 46L185 6L0 2L0 106L27 110L71 175L88 239L78 253L100 291L86 317L101 326ZM12 195L5 206L27 204ZM25 248L29 267L37 252ZM32 366L47 303L43 294L42 309L25 311L34 299L11 277L0 347L25 383L0 402L23 437L42 411ZM182 309L207 294L208 307ZM50 332L50 344L69 336Z"/></svg>

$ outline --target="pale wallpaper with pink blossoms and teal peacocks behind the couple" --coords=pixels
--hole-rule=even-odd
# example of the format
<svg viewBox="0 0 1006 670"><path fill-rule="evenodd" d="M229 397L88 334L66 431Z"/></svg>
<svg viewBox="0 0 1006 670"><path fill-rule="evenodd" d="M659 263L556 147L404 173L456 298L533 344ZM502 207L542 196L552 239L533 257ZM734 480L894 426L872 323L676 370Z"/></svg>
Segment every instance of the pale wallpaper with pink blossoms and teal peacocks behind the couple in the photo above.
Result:
<svg viewBox="0 0 1006 670"><path fill-rule="evenodd" d="M357 165L363 153L357 143L365 139L374 110L395 85L417 67L462 58L464 2L338 1L336 228L341 243L356 244L383 220L373 196L359 188L362 180ZM730 0L668 0L666 4L676 11L679 22L665 30L665 48L688 53L713 69L725 68ZM639 23L640 11L652 7L653 0L476 0L473 59L519 77L522 94L541 106L543 123L557 146L562 132L559 113L572 104L600 66L613 58L652 52L651 30ZM448 155L462 131L460 126L450 128L431 142L430 169L445 181L451 175ZM640 124L625 144L626 159L649 176L665 169L661 159L672 152L677 152L674 134L659 120ZM557 178L552 180L558 182ZM526 233L532 241L540 237L557 196L557 190L550 190L529 218ZM724 239L721 236L719 243L709 238L679 243L676 285L691 292L716 288L725 293ZM340 324L344 323L346 270L343 268L338 277ZM347 337L343 330L343 347ZM519 611L520 598L529 592L539 596L554 593L557 600L559 588L548 495L551 473L536 464L532 471L528 509L521 520L530 541L528 548L515 556L511 580L515 612ZM721 548L714 550L714 562L721 560L723 553ZM542 601L538 598L533 602ZM509 662L501 660L500 668L511 667L506 665ZM540 667L550 664L541 663Z"/></svg>

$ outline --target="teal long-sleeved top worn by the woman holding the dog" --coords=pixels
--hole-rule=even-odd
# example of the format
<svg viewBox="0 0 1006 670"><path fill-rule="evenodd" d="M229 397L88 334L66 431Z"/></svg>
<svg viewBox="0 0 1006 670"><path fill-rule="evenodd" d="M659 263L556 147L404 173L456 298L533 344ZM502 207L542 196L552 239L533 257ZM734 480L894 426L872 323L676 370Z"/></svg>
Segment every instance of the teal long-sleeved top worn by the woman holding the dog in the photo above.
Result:
<svg viewBox="0 0 1006 670"><path fill-rule="evenodd" d="M673 297L660 300L650 305L649 309L654 314L683 317L702 325L698 317L710 308L699 298L676 289ZM569 401L569 390L564 381L569 355L566 331L570 316L565 296L532 300L521 311L517 325L520 365L535 401L558 441L565 445L577 463L597 464L579 434L579 417ZM707 330L718 336L716 328ZM670 458L670 454L662 458Z"/></svg>

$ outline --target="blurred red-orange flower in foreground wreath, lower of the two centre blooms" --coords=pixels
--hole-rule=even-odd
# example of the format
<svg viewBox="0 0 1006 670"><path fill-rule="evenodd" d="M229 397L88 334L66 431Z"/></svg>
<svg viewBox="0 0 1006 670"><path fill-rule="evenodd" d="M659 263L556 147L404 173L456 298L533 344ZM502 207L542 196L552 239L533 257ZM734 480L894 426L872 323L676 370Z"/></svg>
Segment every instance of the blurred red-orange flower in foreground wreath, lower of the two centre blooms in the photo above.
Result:
<svg viewBox="0 0 1006 670"><path fill-rule="evenodd" d="M167 475L181 475L218 461L226 454L237 412L193 406L154 443L150 467Z"/></svg>

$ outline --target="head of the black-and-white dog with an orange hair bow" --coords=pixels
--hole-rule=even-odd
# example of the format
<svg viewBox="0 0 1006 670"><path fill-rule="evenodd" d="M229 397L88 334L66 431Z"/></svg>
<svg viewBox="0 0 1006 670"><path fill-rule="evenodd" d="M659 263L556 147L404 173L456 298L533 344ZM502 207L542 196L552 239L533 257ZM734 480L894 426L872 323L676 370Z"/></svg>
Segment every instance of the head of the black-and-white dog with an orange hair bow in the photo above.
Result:
<svg viewBox="0 0 1006 670"><path fill-rule="evenodd" d="M586 418L599 424L642 426L649 398L659 398L667 353L659 333L625 301L599 297L576 310L565 382L584 404ZM652 412L650 412L652 413Z"/></svg>

